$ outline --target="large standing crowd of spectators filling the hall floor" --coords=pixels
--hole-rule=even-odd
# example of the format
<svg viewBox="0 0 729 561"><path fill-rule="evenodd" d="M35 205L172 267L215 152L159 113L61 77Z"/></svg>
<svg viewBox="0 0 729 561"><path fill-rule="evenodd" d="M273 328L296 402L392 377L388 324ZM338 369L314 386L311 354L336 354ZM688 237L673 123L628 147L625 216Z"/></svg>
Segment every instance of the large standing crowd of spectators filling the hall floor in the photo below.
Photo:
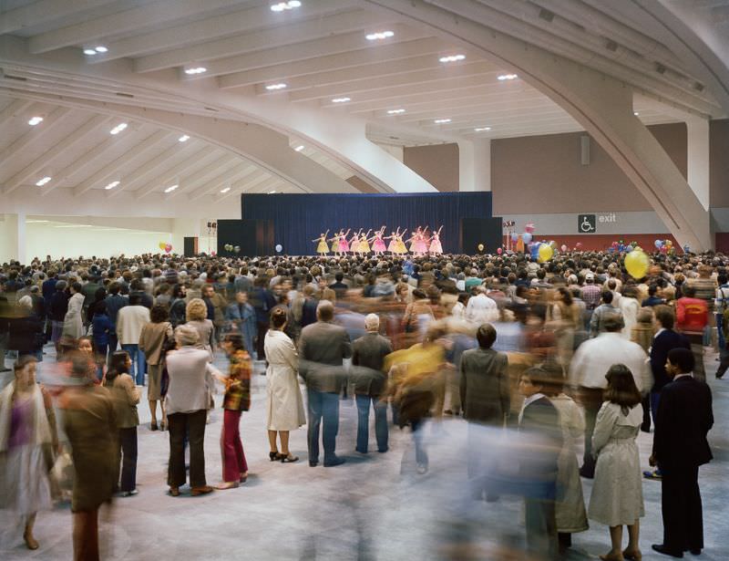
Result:
<svg viewBox="0 0 729 561"><path fill-rule="evenodd" d="M299 461L289 437L306 425L309 465L320 463L320 432L323 467L343 464L339 407L354 399L356 452L369 451L372 408L377 452L388 452L392 425L407 427L424 474L426 423L463 417L473 500L497 502L506 488L523 495L535 558L564 553L593 520L610 528L602 559L640 559L644 479L662 482L663 540L652 548L700 553L698 468L712 459L713 424L704 354L718 350L721 379L729 259L659 253L644 277L632 278L622 257L141 255L5 264L0 369L6 355L16 359L0 393L0 507L23 517L26 545L37 548L36 513L61 494L65 458L75 473L75 556L98 558L99 505L137 494L145 386L150 430L169 431L169 494L179 496L188 481L192 495L214 490L203 445L219 390L217 488L238 487L248 477L241 412L260 371L272 462ZM221 355L227 372L215 366ZM55 378L39 385L37 363L49 360ZM484 426L529 443L518 475L501 473L479 445ZM651 429L651 469L643 470L636 438ZM588 504L580 477L594 480Z"/></svg>

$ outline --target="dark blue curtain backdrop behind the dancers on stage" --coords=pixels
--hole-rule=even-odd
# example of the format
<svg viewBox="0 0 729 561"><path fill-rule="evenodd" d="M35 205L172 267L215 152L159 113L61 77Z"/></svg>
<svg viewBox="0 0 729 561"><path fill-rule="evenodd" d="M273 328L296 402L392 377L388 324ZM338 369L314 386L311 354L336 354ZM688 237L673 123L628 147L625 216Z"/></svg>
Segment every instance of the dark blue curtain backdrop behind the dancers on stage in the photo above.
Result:
<svg viewBox="0 0 729 561"><path fill-rule="evenodd" d="M383 225L385 235L407 228L406 238L418 225L431 232L442 225L443 251L458 253L461 219L491 218L492 211L490 192L243 194L241 209L244 220L272 221L275 244L289 255L314 254L312 240L326 230L332 237L342 228L366 232Z"/></svg>

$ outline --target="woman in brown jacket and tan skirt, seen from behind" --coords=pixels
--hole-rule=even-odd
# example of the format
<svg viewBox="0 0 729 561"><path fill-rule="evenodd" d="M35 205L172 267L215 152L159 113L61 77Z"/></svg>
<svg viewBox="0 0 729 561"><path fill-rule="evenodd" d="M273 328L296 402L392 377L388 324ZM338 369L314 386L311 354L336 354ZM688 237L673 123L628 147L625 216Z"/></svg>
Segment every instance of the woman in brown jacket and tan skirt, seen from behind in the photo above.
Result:
<svg viewBox="0 0 729 561"><path fill-rule="evenodd" d="M152 413L152 421L149 428L157 431L157 402L162 410L162 422L159 428L164 431L167 428L167 411L165 402L162 400L162 370L164 369L165 355L170 346L174 346L174 334L172 324L169 323L169 312L167 306L161 304L152 306L149 312L150 323L142 327L139 334L139 350L147 358L147 372L149 390L149 410Z"/></svg>

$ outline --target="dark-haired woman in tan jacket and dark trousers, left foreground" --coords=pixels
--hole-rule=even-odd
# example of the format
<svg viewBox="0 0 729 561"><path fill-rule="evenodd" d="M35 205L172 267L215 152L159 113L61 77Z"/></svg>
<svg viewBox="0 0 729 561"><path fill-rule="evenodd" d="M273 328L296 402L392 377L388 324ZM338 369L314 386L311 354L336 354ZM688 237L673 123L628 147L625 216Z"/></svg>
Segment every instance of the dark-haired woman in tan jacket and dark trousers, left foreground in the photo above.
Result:
<svg viewBox="0 0 729 561"><path fill-rule="evenodd" d="M140 392L129 376L131 357L126 350L112 353L104 387L108 388L114 399L117 416L118 442L121 450L122 496L132 496L137 491L137 426L139 414L137 404Z"/></svg>

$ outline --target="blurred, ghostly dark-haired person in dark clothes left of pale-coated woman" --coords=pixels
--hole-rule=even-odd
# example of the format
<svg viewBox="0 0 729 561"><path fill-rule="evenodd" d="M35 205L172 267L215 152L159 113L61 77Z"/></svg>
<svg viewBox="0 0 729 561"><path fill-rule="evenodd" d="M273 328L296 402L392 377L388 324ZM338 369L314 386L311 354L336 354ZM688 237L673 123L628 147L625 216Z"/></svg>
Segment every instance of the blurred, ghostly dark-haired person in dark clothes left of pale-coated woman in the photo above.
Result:
<svg viewBox="0 0 729 561"><path fill-rule="evenodd" d="M554 501L562 431L559 412L541 392L547 379L549 374L539 366L530 368L519 379L519 393L525 398L519 413L519 431L534 440L522 453L519 474L525 482L527 548L535 556L556 558L558 538Z"/></svg>

